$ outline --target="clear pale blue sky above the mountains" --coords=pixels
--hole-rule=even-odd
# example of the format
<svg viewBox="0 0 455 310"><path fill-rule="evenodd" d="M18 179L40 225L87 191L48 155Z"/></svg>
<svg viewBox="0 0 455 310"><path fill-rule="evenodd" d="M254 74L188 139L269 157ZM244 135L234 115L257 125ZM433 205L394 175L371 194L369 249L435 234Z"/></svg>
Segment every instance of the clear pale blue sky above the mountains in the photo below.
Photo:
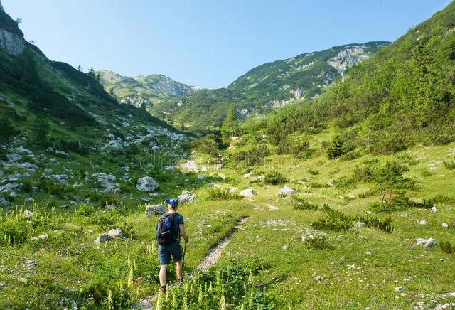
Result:
<svg viewBox="0 0 455 310"><path fill-rule="evenodd" d="M1 0L52 60L225 87L300 53L394 41L447 0Z"/></svg>

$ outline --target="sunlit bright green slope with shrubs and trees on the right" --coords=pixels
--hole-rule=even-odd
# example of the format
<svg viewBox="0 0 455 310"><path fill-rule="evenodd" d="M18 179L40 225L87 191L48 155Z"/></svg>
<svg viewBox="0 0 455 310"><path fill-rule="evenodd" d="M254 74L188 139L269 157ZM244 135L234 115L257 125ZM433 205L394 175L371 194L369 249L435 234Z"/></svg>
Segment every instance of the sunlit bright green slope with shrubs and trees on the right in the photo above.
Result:
<svg viewBox="0 0 455 310"><path fill-rule="evenodd" d="M405 149L454 141L455 4L355 66L326 95L258 122L277 144L335 126L348 149Z"/></svg>

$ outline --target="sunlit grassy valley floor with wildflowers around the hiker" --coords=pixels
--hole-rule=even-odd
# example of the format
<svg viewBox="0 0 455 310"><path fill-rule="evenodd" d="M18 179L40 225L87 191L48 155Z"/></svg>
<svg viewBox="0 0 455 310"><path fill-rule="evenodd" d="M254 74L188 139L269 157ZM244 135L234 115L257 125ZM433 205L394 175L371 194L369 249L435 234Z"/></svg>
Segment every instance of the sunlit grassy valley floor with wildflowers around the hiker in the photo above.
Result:
<svg viewBox="0 0 455 310"><path fill-rule="evenodd" d="M362 195L368 192L368 184L314 186L316 181L326 184L349 176L369 156L352 161L328 161L321 156L306 161L287 156L267 159L267 167L278 167L287 176L287 186L296 190L296 196L318 205L319 210L296 210L291 197L276 195L282 186L251 183L263 167L226 166L220 171L224 179L215 171L206 171L206 186L196 190L198 201L182 205L180 210L190 236L186 272L193 272L209 250L232 232L238 220L248 217L215 265L256 257L261 268L252 274L250 285L267 294L274 309L432 309L455 303L455 255L438 246L417 245L418 238L455 242L455 172L442 164L454 151L455 144L431 149L419 146L396 156L377 156L378 165L388 159L406 158L410 163L406 175L417 180L408 195L446 201L436 203L436 210L378 212L370 208L370 203L378 201L379 196ZM318 173L314 175L310 170ZM255 174L242 176L249 171ZM253 188L256 195L232 201L204 200L213 182L239 191ZM391 217L395 230L385 233L365 225L358 227L355 221L346 231L316 230L311 223L324 218L324 203L351 218ZM156 294L159 265L151 238L157 218L146 217L143 210L144 206L138 206L124 213L105 210L73 214L39 210L36 206L31 215L35 235L48 237L1 246L0 308L104 308L109 306L109 294L113 300L110 305L115 308L115 303L122 305L127 295L129 300L137 301ZM6 225L17 225L20 231L23 210L6 216L10 219ZM97 248L96 237L114 226L122 227L127 237ZM315 235L326 237L323 247L304 242ZM171 268L169 277L175 278L175 269ZM242 299L248 297L233 300Z"/></svg>

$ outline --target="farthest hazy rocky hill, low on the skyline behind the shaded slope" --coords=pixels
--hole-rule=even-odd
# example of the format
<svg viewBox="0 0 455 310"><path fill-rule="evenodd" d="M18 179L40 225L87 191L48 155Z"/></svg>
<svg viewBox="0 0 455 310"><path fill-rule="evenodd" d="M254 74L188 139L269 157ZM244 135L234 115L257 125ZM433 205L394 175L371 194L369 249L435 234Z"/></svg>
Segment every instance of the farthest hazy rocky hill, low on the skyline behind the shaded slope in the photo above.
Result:
<svg viewBox="0 0 455 310"><path fill-rule="evenodd" d="M166 75L126 77L113 71L99 71L105 90L119 98L119 102L136 107L150 106L164 98L191 95L198 87L188 86Z"/></svg>

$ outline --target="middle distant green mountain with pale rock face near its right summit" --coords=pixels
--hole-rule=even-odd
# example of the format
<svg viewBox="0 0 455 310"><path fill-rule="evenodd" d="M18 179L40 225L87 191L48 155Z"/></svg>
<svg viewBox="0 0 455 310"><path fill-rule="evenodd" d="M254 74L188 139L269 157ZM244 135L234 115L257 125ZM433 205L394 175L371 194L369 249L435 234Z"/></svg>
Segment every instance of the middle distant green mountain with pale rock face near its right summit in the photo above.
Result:
<svg viewBox="0 0 455 310"><path fill-rule="evenodd" d="M193 131L217 129L230 105L241 117L264 114L295 100L317 97L346 70L370 58L388 42L337 46L265 63L232 82L226 89L200 90L186 97L164 100L151 113Z"/></svg>

